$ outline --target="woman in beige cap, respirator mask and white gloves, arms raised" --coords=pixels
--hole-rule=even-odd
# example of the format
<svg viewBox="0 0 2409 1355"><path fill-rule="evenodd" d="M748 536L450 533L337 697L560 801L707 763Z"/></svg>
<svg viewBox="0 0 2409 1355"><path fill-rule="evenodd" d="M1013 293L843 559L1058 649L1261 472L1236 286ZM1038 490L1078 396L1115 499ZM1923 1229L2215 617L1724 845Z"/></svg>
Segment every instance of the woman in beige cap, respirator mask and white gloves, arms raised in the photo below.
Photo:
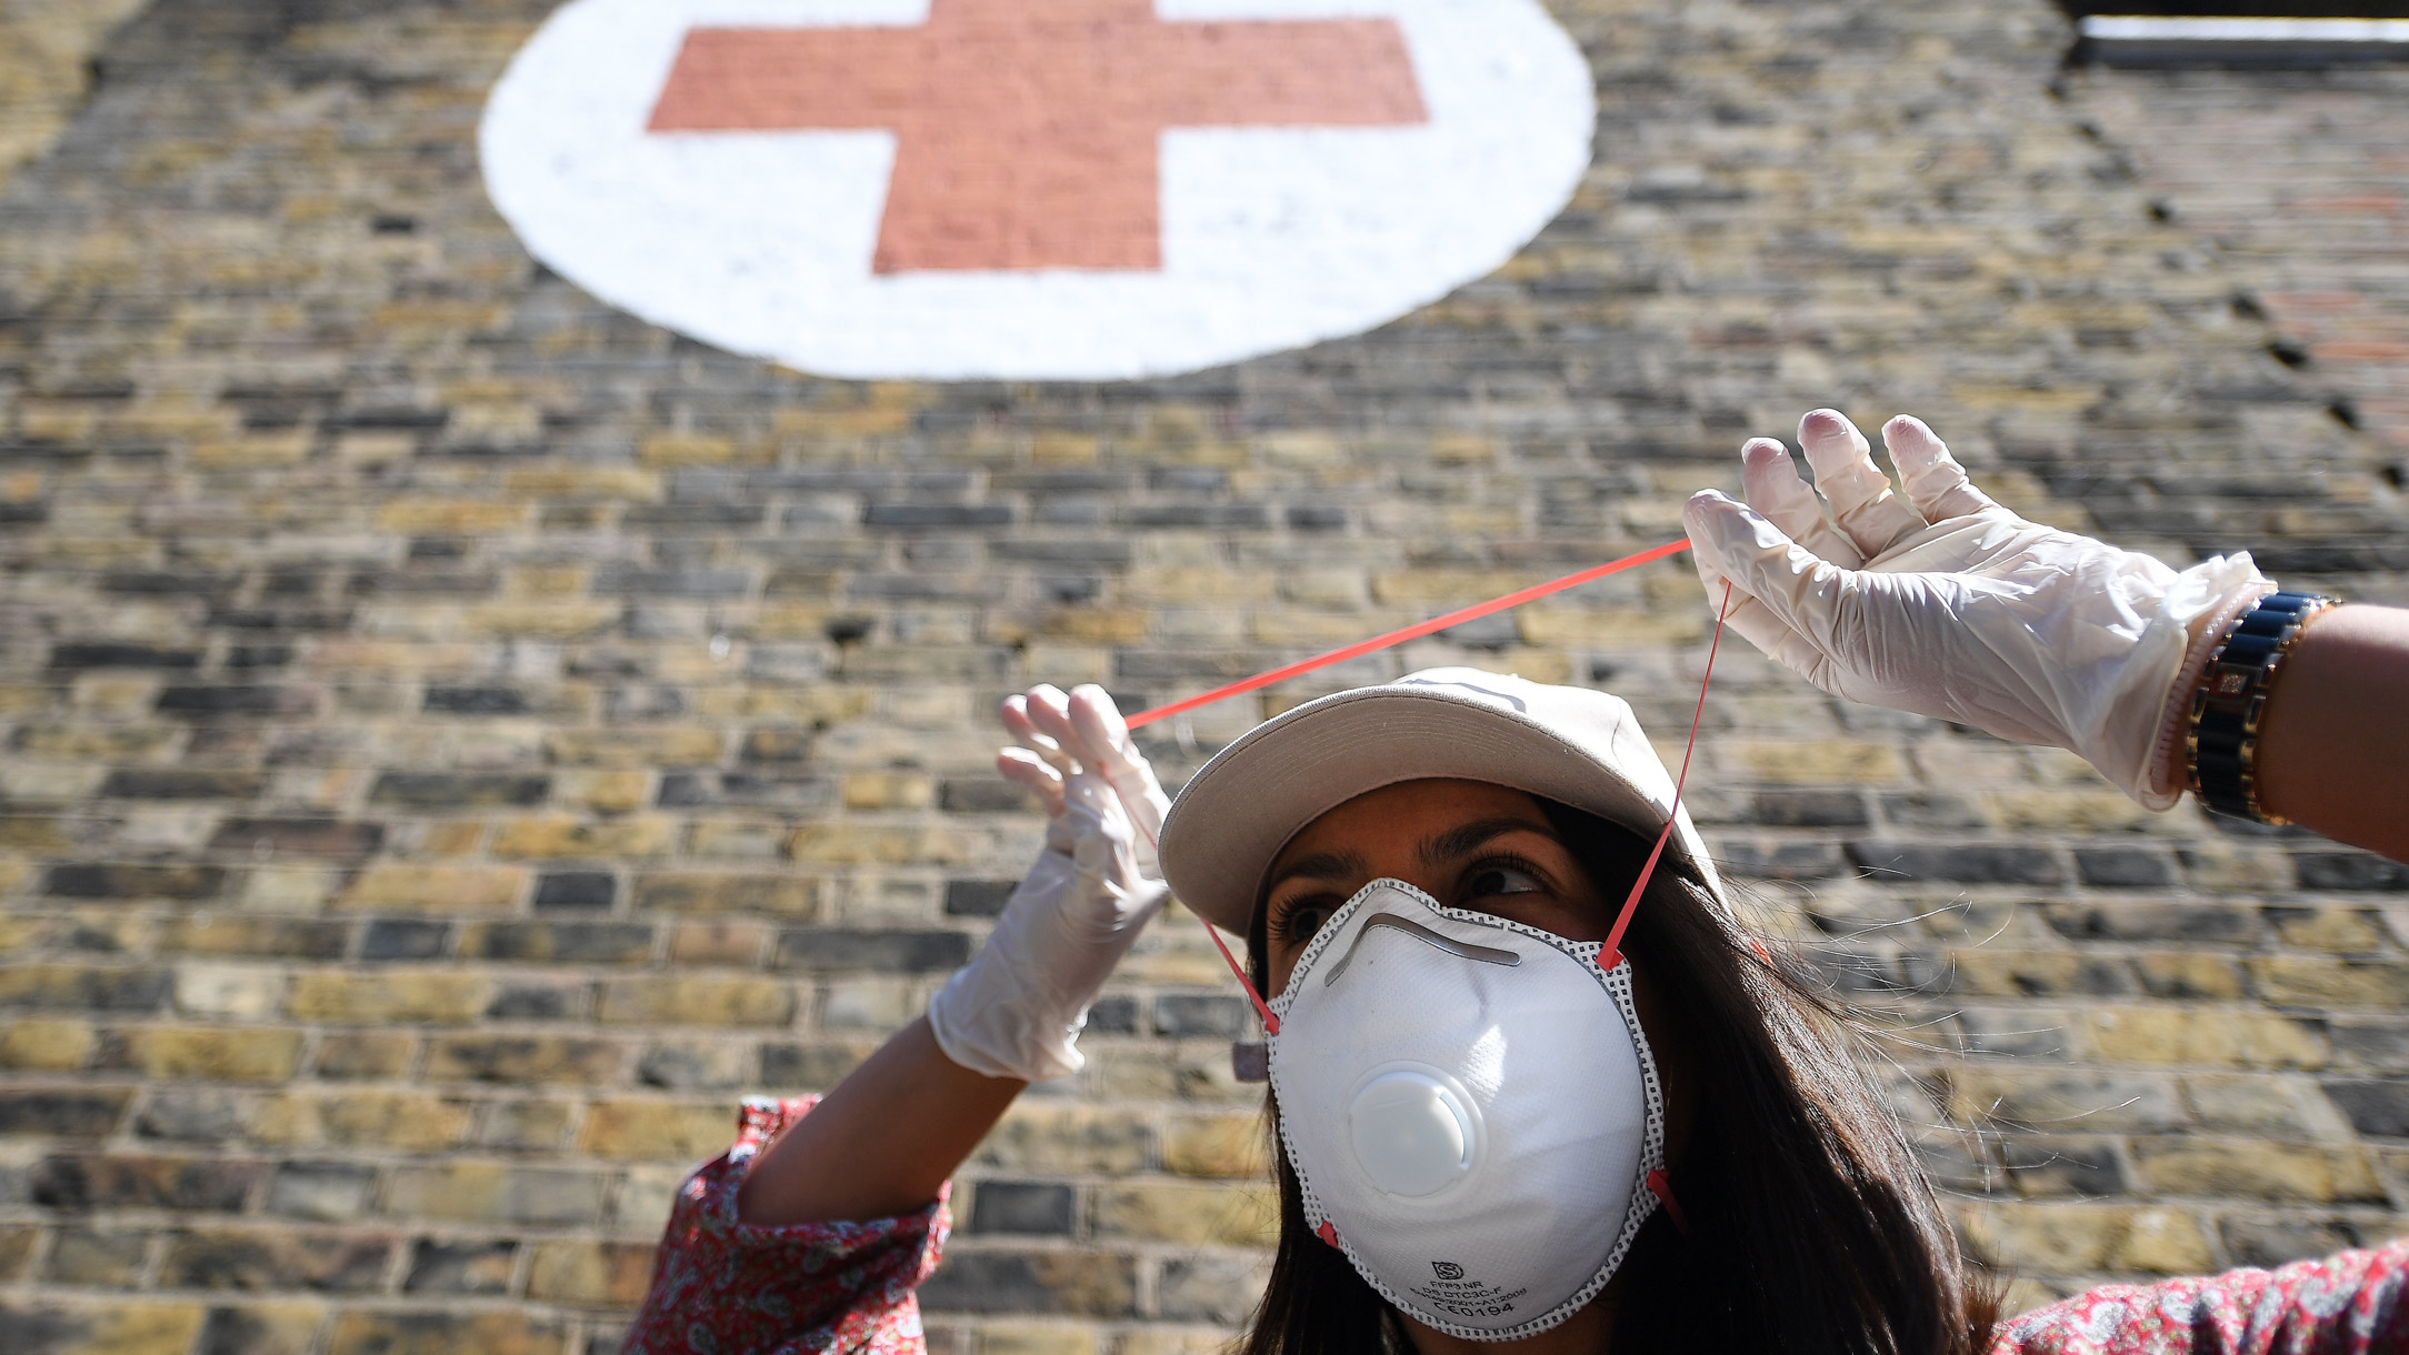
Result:
<svg viewBox="0 0 2409 1355"><path fill-rule="evenodd" d="M1734 631L1836 696L2074 748L2142 804L2192 785L2409 859L2409 614L2038 527L1922 424L1884 440L1898 489L1816 412L1816 489L1754 440L1747 505L1691 501ZM1267 1016L1282 1237L1248 1355L2409 1350L2404 1242L1999 1319L1845 1025L1734 919L1612 696L1474 669L1337 693L1176 806L1096 688L1005 727L1046 852L927 1018L817 1105L747 1107L631 1355L918 1348L944 1179L1079 1066L1168 890L1248 936Z"/></svg>

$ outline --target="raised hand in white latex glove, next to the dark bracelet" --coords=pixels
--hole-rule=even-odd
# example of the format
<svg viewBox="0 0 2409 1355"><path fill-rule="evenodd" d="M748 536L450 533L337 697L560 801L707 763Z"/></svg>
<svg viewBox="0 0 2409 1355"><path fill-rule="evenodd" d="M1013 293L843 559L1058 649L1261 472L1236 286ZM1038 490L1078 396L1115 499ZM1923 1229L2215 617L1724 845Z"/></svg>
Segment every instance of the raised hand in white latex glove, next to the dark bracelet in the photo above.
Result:
<svg viewBox="0 0 2409 1355"><path fill-rule="evenodd" d="M2173 806L2192 684L2221 626L2274 585L2245 554L2178 573L2026 522L1906 414L1881 440L1906 498L1831 409L1800 421L1814 489L1780 443L1749 440L1749 503L1701 491L1681 515L1708 599L1730 580L1727 623L1833 696L2072 748L2144 806Z"/></svg>

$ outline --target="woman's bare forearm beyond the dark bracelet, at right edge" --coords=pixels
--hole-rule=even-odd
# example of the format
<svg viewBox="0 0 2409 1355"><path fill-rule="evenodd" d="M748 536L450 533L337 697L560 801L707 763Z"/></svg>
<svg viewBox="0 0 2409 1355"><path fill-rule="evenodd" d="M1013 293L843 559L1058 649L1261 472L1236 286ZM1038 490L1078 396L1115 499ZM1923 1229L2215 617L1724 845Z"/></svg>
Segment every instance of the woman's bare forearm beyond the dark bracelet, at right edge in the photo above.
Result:
<svg viewBox="0 0 2409 1355"><path fill-rule="evenodd" d="M2301 633L2260 717L2260 809L2409 862L2409 611L2339 607Z"/></svg>

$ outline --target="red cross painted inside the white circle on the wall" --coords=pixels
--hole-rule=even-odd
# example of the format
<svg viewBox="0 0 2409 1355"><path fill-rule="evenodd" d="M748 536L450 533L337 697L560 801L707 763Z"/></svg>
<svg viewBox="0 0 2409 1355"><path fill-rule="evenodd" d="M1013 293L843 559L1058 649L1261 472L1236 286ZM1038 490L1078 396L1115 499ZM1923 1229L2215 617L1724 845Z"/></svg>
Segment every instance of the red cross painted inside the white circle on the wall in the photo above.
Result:
<svg viewBox="0 0 2409 1355"><path fill-rule="evenodd" d="M691 29L650 130L894 130L874 272L1156 270L1166 128L1421 120L1392 19L930 0L918 29Z"/></svg>

